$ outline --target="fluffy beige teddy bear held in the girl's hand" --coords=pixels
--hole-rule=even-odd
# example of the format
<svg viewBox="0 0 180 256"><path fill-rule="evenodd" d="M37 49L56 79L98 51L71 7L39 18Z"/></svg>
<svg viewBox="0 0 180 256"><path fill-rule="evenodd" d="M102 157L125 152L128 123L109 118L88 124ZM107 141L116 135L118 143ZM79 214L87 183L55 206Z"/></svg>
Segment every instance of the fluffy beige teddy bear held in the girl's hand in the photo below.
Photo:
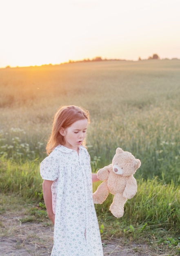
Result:
<svg viewBox="0 0 180 256"><path fill-rule="evenodd" d="M122 217L125 202L136 195L137 182L133 174L140 168L140 165L140 159L136 159L130 152L123 151L122 148L117 148L112 164L97 172L99 180L103 182L93 193L93 202L102 204L110 192L114 197L109 210L116 218Z"/></svg>

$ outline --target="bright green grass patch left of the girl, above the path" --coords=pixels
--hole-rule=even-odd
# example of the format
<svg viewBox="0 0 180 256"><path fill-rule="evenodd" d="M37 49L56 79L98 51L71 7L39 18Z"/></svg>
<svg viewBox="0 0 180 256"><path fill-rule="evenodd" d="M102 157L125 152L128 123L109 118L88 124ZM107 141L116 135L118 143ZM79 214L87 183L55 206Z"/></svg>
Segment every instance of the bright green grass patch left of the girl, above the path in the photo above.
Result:
<svg viewBox="0 0 180 256"><path fill-rule="evenodd" d="M39 161L16 163L12 159L0 158L0 191L3 194L16 194L23 198L40 199L42 179Z"/></svg>

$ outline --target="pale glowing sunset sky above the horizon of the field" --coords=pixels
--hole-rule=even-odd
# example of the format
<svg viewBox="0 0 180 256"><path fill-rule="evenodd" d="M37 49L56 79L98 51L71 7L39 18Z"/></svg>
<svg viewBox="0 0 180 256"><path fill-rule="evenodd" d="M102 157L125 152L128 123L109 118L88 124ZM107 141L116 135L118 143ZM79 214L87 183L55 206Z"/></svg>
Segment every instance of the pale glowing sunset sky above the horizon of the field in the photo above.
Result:
<svg viewBox="0 0 180 256"><path fill-rule="evenodd" d="M0 67L180 58L179 0L0 0Z"/></svg>

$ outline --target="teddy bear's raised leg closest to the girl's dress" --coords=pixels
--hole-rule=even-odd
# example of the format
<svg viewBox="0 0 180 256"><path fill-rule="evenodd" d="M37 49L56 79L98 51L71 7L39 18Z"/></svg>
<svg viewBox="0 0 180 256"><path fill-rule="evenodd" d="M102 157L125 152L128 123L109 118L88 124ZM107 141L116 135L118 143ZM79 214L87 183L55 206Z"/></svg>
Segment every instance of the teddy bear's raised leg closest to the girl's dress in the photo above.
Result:
<svg viewBox="0 0 180 256"><path fill-rule="evenodd" d="M93 193L94 204L102 204L109 195L109 189L107 187L107 181L102 182L98 189Z"/></svg>

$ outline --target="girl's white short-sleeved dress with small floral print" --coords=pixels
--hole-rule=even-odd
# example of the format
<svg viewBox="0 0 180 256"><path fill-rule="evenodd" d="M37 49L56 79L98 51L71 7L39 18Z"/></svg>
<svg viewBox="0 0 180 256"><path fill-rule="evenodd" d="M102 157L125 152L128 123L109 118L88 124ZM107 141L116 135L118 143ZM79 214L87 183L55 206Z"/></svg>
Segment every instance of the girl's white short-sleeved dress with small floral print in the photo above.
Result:
<svg viewBox="0 0 180 256"><path fill-rule="evenodd" d="M102 242L92 199L90 156L86 148L57 146L40 164L51 186L55 214L51 256L103 256Z"/></svg>

